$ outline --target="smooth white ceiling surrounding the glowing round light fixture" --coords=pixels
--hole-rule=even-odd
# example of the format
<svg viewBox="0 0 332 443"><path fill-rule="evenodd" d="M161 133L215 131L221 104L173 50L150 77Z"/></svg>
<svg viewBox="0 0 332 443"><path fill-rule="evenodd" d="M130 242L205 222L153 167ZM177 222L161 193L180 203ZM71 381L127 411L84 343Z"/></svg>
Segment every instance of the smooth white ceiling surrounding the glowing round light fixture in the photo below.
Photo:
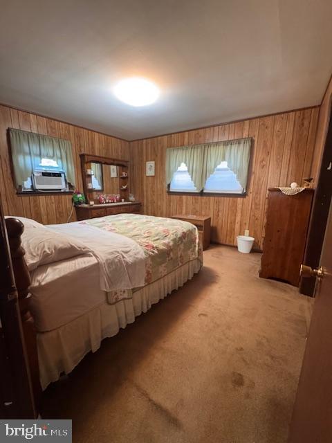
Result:
<svg viewBox="0 0 332 443"><path fill-rule="evenodd" d="M126 139L320 104L331 0L7 0L0 102ZM113 96L154 80L154 105Z"/></svg>

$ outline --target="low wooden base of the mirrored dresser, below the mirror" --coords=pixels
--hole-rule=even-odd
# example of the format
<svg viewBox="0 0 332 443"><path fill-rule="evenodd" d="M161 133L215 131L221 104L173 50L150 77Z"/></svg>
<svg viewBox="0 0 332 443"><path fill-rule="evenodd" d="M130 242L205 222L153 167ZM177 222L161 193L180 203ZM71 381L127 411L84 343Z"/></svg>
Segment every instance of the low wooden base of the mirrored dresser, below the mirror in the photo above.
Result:
<svg viewBox="0 0 332 443"><path fill-rule="evenodd" d="M98 204L98 205L80 205L76 206L77 220L94 219L95 217L104 217L105 215L116 215L121 213L139 213L141 204L124 202L119 204Z"/></svg>

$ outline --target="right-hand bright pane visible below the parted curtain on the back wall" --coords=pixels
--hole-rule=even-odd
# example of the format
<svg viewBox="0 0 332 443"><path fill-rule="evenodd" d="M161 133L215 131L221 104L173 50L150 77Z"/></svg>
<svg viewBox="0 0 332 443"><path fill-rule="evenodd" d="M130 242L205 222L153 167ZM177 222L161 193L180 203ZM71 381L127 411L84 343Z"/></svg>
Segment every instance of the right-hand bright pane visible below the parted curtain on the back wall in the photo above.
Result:
<svg viewBox="0 0 332 443"><path fill-rule="evenodd" d="M203 192L243 194L243 188L237 181L237 176L228 168L227 161L222 161L205 181Z"/></svg>

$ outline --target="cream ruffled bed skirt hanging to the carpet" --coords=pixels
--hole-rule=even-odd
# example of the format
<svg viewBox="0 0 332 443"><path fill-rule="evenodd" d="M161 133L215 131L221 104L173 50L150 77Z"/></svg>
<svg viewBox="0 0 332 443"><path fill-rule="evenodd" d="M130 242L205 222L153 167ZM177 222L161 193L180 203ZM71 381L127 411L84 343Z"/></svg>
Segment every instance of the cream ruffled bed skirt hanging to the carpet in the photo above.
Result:
<svg viewBox="0 0 332 443"><path fill-rule="evenodd" d="M42 389L57 381L63 372L68 374L90 351L99 349L103 338L118 334L120 328L135 321L151 305L183 286L201 269L197 258L183 264L156 282L133 292L133 297L109 305L107 300L91 311L62 327L37 333L39 372Z"/></svg>

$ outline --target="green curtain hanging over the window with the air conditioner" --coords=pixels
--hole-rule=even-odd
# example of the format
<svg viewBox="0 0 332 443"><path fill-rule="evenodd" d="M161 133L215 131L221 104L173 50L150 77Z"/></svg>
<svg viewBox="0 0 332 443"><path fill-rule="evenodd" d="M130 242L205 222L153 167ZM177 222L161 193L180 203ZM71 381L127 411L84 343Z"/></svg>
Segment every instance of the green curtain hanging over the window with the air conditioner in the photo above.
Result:
<svg viewBox="0 0 332 443"><path fill-rule="evenodd" d="M71 142L62 138L42 136L33 132L9 129L12 163L17 188L22 186L42 159L53 159L75 186L75 170Z"/></svg>

